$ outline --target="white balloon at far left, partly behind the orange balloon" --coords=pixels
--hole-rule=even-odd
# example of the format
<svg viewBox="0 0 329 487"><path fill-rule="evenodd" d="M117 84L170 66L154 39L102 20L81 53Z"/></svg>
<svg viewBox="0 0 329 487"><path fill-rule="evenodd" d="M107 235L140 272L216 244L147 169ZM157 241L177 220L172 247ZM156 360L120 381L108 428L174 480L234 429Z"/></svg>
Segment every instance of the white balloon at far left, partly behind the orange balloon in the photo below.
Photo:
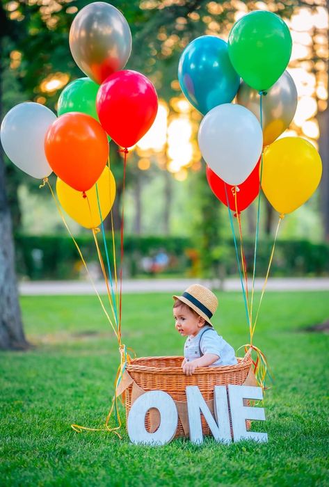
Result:
<svg viewBox="0 0 329 487"><path fill-rule="evenodd" d="M1 144L10 161L37 179L51 174L44 142L54 120L56 115L46 106L24 102L8 111L1 123Z"/></svg>

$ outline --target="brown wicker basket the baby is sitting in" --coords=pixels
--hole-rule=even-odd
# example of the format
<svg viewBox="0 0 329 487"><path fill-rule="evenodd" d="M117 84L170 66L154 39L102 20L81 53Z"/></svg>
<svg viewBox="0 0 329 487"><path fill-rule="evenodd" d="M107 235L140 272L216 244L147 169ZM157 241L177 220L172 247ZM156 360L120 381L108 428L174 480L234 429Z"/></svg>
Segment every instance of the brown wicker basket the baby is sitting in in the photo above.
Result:
<svg viewBox="0 0 329 487"><path fill-rule="evenodd" d="M198 385L206 401L214 399L215 385L242 385L252 365L250 354L238 358L237 365L220 367L200 367L192 376L182 372L183 357L141 357L131 360L127 372L136 384L145 391L163 390L168 392L175 401L186 401L186 385ZM126 416L131 408L132 385L126 390ZM145 426L150 429L150 417L145 418ZM205 436L210 434L209 426L202 416L202 431ZM175 438L186 436L181 421L178 421Z"/></svg>

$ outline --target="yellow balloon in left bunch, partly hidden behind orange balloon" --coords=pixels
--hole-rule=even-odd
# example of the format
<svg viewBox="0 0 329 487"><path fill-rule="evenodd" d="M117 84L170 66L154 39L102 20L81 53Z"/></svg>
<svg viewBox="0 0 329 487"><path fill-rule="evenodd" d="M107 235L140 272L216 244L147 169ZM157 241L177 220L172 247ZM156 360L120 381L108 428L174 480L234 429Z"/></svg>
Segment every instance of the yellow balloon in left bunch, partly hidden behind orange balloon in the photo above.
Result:
<svg viewBox="0 0 329 487"><path fill-rule="evenodd" d="M99 205L97 201L97 191ZM115 198L115 180L111 170L105 166L97 183L86 191L83 198L81 191L71 188L64 181L57 178L56 192L63 209L77 223L86 228L96 228L109 214ZM102 218L99 214L101 209Z"/></svg>

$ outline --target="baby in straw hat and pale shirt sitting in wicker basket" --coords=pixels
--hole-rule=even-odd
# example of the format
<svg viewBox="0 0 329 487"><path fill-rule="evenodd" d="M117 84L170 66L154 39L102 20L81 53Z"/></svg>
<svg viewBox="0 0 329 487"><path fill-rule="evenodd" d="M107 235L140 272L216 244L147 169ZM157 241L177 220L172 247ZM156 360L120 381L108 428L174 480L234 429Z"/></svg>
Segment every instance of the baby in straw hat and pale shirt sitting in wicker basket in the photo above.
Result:
<svg viewBox="0 0 329 487"><path fill-rule="evenodd" d="M197 367L237 364L234 349L218 335L210 321L218 306L214 293L193 284L182 296L172 297L176 329L188 337L182 362L184 374L191 376Z"/></svg>

